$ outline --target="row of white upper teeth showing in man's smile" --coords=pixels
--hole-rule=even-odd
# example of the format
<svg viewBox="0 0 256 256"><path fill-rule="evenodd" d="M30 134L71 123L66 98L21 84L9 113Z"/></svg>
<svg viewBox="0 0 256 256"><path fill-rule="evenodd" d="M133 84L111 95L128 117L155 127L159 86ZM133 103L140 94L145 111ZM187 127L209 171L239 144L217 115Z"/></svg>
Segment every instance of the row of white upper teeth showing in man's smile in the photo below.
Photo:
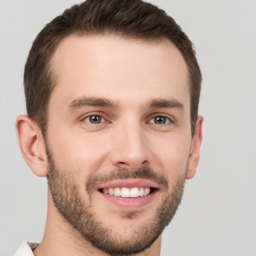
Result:
<svg viewBox="0 0 256 256"><path fill-rule="evenodd" d="M150 193L149 187L109 187L109 188L103 188L102 192L109 195L114 196L121 196L121 197L138 197L138 196L145 196Z"/></svg>

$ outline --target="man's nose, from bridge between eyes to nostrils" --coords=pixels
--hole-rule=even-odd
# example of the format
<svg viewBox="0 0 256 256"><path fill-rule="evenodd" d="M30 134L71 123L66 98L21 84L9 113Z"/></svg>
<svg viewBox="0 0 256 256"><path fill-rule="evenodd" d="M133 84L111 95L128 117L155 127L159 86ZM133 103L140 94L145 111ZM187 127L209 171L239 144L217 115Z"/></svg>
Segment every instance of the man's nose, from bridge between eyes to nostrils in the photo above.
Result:
<svg viewBox="0 0 256 256"><path fill-rule="evenodd" d="M110 159L114 166L131 171L149 165L151 153L145 131L139 124L123 125L115 131Z"/></svg>

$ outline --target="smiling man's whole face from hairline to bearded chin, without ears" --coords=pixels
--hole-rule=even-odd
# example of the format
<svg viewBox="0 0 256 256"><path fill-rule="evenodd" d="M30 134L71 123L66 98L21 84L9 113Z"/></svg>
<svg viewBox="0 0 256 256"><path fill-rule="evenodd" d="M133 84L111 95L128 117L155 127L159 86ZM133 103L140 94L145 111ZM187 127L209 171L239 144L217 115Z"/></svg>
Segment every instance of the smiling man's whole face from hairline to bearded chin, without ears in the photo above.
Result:
<svg viewBox="0 0 256 256"><path fill-rule="evenodd" d="M63 39L51 66L48 183L62 216L111 254L148 247L180 202L191 146L188 72L170 42Z"/></svg>

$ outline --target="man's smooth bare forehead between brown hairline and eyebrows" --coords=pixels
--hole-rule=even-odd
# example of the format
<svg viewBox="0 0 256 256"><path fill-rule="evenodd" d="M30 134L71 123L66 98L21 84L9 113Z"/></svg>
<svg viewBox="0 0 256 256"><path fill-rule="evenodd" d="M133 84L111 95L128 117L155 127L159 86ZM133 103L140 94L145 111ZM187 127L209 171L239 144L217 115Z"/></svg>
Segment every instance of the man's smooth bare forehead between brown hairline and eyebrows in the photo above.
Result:
<svg viewBox="0 0 256 256"><path fill-rule="evenodd" d="M68 36L51 60L57 84L51 101L67 106L82 96L118 102L174 98L189 108L188 71L168 40L142 42L116 35Z"/></svg>

